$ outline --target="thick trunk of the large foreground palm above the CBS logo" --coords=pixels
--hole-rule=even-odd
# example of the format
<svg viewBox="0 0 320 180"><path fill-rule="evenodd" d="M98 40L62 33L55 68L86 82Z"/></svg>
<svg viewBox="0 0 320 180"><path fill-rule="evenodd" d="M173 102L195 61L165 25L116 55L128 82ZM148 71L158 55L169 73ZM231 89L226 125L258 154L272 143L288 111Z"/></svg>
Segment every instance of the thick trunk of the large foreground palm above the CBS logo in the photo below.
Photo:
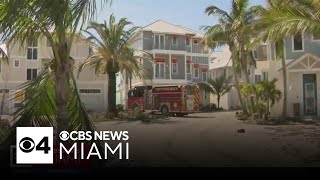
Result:
<svg viewBox="0 0 320 180"><path fill-rule="evenodd" d="M68 65L62 64L57 69L55 85L56 85L56 104L57 104L57 132L68 130L69 113L68 113L68 87L69 87Z"/></svg>

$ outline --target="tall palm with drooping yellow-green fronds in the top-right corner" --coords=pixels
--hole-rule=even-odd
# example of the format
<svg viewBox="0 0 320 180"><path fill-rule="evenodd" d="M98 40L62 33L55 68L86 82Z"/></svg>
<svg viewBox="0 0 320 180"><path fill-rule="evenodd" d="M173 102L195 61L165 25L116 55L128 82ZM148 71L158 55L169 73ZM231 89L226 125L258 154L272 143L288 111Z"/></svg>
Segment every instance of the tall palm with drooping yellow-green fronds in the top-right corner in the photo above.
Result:
<svg viewBox="0 0 320 180"><path fill-rule="evenodd" d="M283 113L287 117L287 71L284 59L283 39L298 33L320 33L319 0L268 0L268 9L258 21L260 37L275 42L277 58L281 59L283 75Z"/></svg>

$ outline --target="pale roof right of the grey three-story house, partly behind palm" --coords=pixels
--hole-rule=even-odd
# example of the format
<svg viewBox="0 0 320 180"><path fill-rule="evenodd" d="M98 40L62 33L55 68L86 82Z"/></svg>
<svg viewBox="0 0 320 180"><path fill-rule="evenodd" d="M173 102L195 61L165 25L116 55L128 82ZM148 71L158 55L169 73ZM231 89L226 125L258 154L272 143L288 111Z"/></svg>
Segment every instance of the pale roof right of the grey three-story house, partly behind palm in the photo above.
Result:
<svg viewBox="0 0 320 180"><path fill-rule="evenodd" d="M214 51L210 56L210 70L231 67L232 61L230 61L230 58L231 52L228 46L222 51Z"/></svg>

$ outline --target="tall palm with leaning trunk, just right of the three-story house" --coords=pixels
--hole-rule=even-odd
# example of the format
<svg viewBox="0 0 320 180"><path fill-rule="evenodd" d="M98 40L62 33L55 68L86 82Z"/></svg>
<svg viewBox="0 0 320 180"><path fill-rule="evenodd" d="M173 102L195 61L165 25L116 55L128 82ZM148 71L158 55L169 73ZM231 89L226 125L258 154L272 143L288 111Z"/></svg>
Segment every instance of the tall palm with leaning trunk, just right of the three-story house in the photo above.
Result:
<svg viewBox="0 0 320 180"><path fill-rule="evenodd" d="M208 15L218 15L219 23L213 26L203 27L206 30L205 43L217 48L223 45L228 45L232 54L233 74L236 81L236 88L240 99L241 106L246 112L246 105L240 93L240 84L238 73L242 72L245 75L246 83L249 84L248 62L250 58L250 49L246 44L250 42L252 32L251 25L255 18L264 11L262 6L249 7L249 0L233 0L231 12L228 13L216 6L206 8Z"/></svg>

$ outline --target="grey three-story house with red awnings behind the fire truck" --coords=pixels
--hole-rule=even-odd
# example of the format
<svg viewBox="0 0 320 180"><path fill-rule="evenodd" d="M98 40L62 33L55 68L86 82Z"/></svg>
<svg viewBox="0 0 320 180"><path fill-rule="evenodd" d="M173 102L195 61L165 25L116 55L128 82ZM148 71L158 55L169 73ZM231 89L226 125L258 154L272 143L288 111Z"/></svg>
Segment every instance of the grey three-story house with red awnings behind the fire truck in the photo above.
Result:
<svg viewBox="0 0 320 180"><path fill-rule="evenodd" d="M203 35L188 28L164 21L156 21L137 32L135 49L150 53L154 62L140 59L149 77L126 78L120 83L120 101L125 104L128 88L135 86L179 85L206 82L209 70L209 50L201 45ZM127 77L124 75L123 77ZM130 84L130 85L128 85ZM122 91L121 91L122 89ZM203 91L202 104L209 103L209 94Z"/></svg>

